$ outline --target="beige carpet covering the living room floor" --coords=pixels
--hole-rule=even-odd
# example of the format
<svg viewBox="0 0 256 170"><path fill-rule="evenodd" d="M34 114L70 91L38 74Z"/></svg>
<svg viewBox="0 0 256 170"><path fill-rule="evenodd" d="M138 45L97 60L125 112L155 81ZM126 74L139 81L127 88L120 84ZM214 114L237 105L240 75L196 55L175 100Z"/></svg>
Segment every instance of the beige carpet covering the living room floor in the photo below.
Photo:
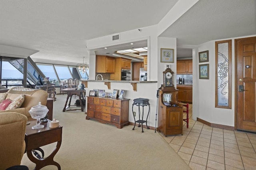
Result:
<svg viewBox="0 0 256 170"><path fill-rule="evenodd" d="M186 170L189 166L154 130L132 125L118 129L113 125L86 120L82 111L62 112L66 94L57 95L53 117L63 126L62 145L54 157L62 170ZM74 104L76 99L72 100ZM76 107L76 106L73 106ZM56 143L42 147L46 156ZM22 164L34 169L24 154ZM43 170L57 170L46 166Z"/></svg>

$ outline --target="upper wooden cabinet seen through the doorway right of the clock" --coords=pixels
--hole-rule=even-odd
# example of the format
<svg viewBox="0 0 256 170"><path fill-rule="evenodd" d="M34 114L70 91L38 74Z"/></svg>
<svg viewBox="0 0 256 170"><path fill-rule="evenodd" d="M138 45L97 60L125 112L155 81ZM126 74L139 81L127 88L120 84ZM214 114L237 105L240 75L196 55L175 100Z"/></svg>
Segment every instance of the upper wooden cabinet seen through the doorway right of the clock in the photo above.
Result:
<svg viewBox="0 0 256 170"><path fill-rule="evenodd" d="M177 61L177 74L192 74L192 60L178 60Z"/></svg>

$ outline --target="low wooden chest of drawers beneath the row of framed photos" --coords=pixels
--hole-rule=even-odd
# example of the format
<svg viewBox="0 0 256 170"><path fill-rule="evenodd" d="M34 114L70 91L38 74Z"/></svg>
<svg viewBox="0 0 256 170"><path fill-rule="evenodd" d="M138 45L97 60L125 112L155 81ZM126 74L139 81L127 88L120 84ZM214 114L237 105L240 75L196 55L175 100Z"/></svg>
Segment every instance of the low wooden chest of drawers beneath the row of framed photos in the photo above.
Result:
<svg viewBox="0 0 256 170"><path fill-rule="evenodd" d="M129 125L129 100L87 97L86 119L94 119L100 123L112 124L121 129L124 125Z"/></svg>

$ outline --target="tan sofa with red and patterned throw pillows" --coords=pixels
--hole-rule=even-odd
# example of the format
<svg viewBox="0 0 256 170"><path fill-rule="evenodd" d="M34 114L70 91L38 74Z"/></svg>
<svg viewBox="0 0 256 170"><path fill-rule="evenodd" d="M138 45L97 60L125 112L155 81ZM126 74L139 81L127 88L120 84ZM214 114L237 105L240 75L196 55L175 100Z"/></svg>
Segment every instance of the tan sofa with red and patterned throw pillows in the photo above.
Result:
<svg viewBox="0 0 256 170"><path fill-rule="evenodd" d="M48 93L41 89L32 89L32 88L21 88L21 87L14 87L8 90L6 93L1 93L0 95L4 97L6 94L5 100L10 99L11 101L14 101L19 96L22 98L24 96L24 101L22 102L21 106L14 109L9 110L2 110L1 113L6 112L17 112L25 115L28 117L28 121L34 120L29 114L29 110L31 107L38 105L38 102L41 102L42 105L46 106ZM10 105L9 105L10 106ZM6 108L7 109L7 108Z"/></svg>

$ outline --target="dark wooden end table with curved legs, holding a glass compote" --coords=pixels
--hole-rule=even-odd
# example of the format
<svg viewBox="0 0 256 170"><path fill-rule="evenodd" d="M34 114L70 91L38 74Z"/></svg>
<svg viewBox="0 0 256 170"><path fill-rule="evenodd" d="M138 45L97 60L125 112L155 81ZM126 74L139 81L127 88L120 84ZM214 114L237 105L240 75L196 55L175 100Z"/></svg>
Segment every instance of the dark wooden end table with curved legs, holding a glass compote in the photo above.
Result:
<svg viewBox="0 0 256 170"><path fill-rule="evenodd" d="M47 165L55 165L58 167L58 170L60 170L60 164L55 162L53 158L60 149L62 141L62 126L50 128L49 120L48 122L42 124L44 125L44 128L37 130L32 129L32 126L36 125L36 120L30 121L30 124L26 126L25 142L27 156L36 164L34 170L39 170ZM32 150L54 142L57 142L56 148L48 157L38 159L33 156Z"/></svg>

